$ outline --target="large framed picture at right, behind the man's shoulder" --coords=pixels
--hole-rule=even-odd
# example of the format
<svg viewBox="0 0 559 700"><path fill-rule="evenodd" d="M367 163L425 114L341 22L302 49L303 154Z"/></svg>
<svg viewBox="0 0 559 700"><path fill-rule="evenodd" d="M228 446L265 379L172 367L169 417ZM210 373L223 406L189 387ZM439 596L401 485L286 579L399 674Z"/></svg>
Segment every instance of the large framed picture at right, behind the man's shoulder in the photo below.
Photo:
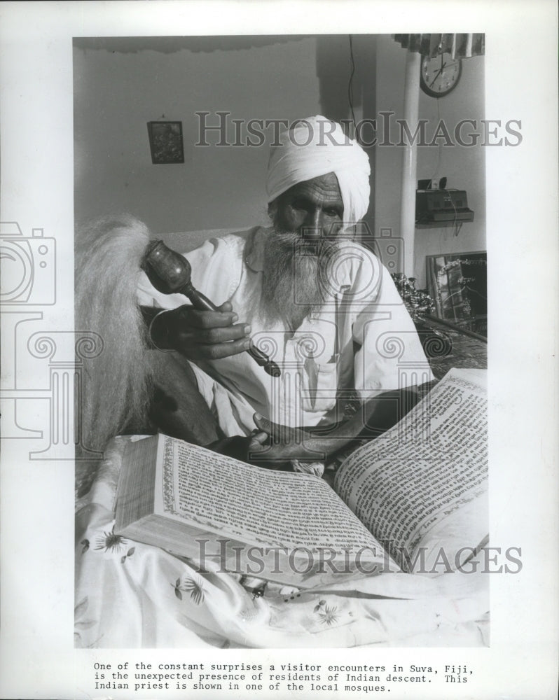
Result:
<svg viewBox="0 0 559 700"><path fill-rule="evenodd" d="M487 335L487 252L427 255L436 316Z"/></svg>

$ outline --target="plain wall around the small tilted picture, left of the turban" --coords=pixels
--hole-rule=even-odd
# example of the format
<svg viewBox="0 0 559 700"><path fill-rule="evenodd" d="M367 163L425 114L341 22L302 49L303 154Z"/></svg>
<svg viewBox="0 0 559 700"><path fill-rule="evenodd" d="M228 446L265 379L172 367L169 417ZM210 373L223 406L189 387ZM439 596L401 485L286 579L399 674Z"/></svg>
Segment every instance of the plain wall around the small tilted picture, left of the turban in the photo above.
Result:
<svg viewBox="0 0 559 700"><path fill-rule="evenodd" d="M319 113L317 40L226 50L211 50L211 38L208 50L199 50L200 40L195 50L181 43L188 38L165 51L127 43L118 50L118 40L116 50L74 49L76 221L130 211L153 232L266 221L268 144L195 147L195 112L289 120ZM183 123L184 165L151 163L149 120Z"/></svg>

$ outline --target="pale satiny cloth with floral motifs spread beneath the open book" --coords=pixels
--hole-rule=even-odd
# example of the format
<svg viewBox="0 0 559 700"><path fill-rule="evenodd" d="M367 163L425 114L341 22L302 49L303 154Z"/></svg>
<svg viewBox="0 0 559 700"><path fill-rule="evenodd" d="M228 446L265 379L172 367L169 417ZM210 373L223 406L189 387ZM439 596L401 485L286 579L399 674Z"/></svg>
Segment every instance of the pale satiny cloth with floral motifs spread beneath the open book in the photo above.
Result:
<svg viewBox="0 0 559 700"><path fill-rule="evenodd" d="M481 574L382 573L299 591L200 572L116 535L113 499L130 439L111 441L91 488L76 500L77 647L488 645L488 577Z"/></svg>

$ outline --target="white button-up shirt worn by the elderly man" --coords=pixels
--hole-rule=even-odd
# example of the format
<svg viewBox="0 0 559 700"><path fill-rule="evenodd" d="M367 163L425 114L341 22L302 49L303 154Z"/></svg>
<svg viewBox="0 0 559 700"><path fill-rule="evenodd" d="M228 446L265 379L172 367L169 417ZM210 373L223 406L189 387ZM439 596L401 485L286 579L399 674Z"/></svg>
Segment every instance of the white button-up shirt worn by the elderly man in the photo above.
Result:
<svg viewBox="0 0 559 700"><path fill-rule="evenodd" d="M238 322L251 325L254 343L279 365L281 377L270 377L245 352L198 362L202 370L252 411L291 427L336 421L336 397L352 390L364 399L433 378L387 269L371 251L347 239L331 266L331 289L322 308L296 332L282 321L265 327L251 300L261 295L267 235L267 229L255 228L209 239L184 257L193 286L217 306L233 305ZM161 309L189 303L183 295L158 292L144 273L138 298L143 306Z"/></svg>

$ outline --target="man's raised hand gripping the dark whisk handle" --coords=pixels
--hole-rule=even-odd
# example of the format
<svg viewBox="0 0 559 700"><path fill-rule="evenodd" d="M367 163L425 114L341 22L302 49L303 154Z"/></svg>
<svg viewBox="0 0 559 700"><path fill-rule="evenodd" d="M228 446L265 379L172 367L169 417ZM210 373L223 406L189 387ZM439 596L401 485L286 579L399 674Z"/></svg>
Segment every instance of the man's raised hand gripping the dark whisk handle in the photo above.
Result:
<svg viewBox="0 0 559 700"><path fill-rule="evenodd" d="M153 322L153 342L161 349L177 350L188 360L218 360L249 349L251 327L236 323L229 302L217 311L198 311L185 304L165 311Z"/></svg>

